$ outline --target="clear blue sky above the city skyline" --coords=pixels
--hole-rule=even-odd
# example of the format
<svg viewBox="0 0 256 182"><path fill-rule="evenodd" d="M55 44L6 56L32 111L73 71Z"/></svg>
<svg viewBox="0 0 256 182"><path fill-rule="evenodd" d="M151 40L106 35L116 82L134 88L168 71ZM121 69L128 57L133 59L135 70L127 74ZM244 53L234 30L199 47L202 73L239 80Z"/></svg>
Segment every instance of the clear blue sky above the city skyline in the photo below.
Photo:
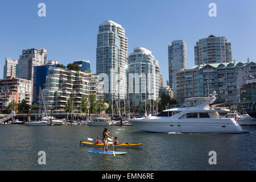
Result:
<svg viewBox="0 0 256 182"><path fill-rule="evenodd" d="M38 4L46 4L46 17ZM217 17L210 17L209 3L216 3ZM159 60L164 84L168 78L168 43L185 39L188 68L194 65L196 42L209 35L225 36L237 61L256 60L256 1L230 0L109 0L109 1L1 1L0 78L5 57L19 59L22 49L45 48L48 60L61 64L90 60L96 73L98 25L104 20L121 24L129 53L145 47Z"/></svg>

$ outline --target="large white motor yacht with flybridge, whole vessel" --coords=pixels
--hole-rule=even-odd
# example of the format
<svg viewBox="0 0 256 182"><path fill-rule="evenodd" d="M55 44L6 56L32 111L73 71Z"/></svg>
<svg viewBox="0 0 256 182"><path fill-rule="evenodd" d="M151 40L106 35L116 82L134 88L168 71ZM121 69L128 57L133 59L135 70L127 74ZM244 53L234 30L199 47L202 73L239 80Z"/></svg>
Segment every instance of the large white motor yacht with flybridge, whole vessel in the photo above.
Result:
<svg viewBox="0 0 256 182"><path fill-rule="evenodd" d="M163 133L245 133L234 118L221 118L209 97L187 98L180 108L164 110L156 117L129 119L138 131Z"/></svg>

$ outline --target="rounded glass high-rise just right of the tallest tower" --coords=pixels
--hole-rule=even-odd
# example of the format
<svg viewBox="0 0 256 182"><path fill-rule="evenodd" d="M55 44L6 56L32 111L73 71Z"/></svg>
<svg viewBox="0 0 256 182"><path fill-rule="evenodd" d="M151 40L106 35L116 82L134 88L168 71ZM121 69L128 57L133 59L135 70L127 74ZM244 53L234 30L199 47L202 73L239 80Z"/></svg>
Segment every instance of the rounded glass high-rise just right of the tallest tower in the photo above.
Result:
<svg viewBox="0 0 256 182"><path fill-rule="evenodd" d="M131 105L138 106L145 100L156 100L160 88L158 60L143 47L134 48L127 60L127 93Z"/></svg>

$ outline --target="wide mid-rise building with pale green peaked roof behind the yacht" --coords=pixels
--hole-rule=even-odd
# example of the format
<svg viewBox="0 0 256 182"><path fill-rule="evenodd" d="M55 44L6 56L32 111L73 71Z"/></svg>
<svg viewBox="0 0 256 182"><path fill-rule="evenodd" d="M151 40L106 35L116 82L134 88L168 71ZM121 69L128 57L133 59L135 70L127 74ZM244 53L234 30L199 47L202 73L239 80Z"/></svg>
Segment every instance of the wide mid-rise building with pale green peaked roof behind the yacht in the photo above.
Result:
<svg viewBox="0 0 256 182"><path fill-rule="evenodd" d="M237 105L241 102L240 89L247 71L256 77L256 64L214 63L177 72L177 102L182 104L189 97L207 97L216 91L217 101Z"/></svg>

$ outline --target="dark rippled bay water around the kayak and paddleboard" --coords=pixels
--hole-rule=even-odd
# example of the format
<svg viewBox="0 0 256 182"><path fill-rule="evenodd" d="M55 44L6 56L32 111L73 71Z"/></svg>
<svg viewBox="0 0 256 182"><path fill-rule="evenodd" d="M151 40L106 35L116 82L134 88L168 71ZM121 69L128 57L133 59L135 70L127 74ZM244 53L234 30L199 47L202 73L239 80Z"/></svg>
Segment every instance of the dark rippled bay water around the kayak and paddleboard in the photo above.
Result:
<svg viewBox="0 0 256 182"><path fill-rule="evenodd" d="M126 155L90 154L102 148L79 146L102 137L104 127L0 126L0 170L256 170L256 127L248 134L163 134L135 132L133 126L111 126L119 142L141 148L115 148ZM112 148L109 147L109 151ZM217 165L209 165L209 151ZM46 165L38 164L46 152Z"/></svg>

